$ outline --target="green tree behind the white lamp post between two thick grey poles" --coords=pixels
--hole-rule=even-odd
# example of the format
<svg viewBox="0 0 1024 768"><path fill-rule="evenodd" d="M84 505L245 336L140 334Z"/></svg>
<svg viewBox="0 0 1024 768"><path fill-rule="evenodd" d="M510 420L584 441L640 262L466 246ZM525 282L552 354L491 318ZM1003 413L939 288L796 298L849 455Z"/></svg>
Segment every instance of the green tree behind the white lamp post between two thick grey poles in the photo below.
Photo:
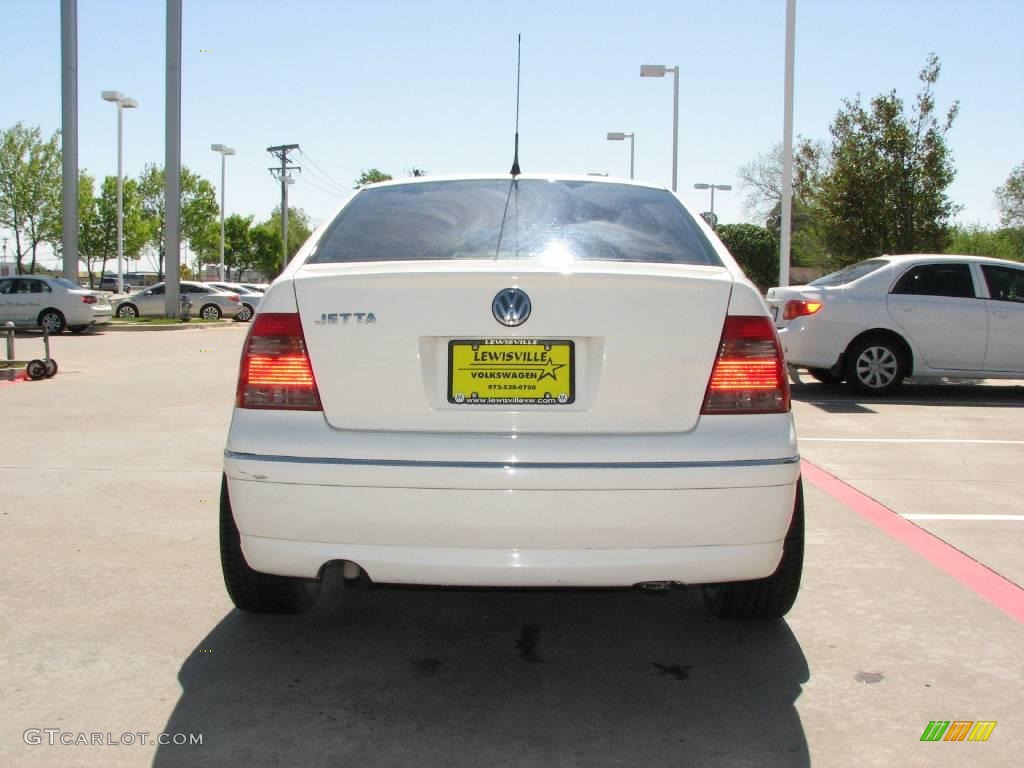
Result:
<svg viewBox="0 0 1024 768"><path fill-rule="evenodd" d="M150 240L150 226L142 214L138 182L124 179L122 189L123 254L137 259ZM95 181L85 171L78 183L78 257L89 274L89 287L95 286L95 275L106 271L106 262L118 257L118 179L103 179L99 197Z"/></svg>

